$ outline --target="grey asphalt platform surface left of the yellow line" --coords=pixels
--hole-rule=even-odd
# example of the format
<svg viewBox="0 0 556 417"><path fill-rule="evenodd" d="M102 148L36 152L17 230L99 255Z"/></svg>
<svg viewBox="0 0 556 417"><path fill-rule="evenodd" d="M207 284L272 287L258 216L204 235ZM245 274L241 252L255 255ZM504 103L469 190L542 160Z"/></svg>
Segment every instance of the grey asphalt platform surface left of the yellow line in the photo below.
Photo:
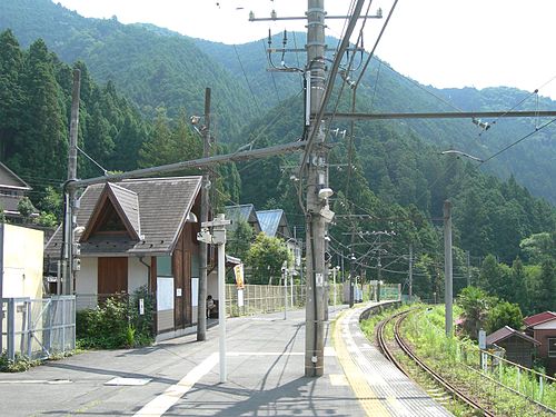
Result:
<svg viewBox="0 0 556 417"><path fill-rule="evenodd" d="M227 328L225 384L219 383L214 327L205 342L190 335L150 348L92 351L23 374L0 374L0 415L390 415L357 399L366 391L351 389L344 371L349 365L340 365L331 346L331 326L326 328L325 376L304 377L305 310L288 311L287 320L284 312L229 319Z"/></svg>

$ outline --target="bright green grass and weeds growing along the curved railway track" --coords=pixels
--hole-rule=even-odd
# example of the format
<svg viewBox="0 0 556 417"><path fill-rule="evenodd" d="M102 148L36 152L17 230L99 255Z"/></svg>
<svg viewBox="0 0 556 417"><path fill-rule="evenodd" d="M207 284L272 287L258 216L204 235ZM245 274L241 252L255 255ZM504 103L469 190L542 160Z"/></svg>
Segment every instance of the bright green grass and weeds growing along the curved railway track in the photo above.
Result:
<svg viewBox="0 0 556 417"><path fill-rule="evenodd" d="M406 340L413 345L415 353L424 359L428 366L450 380L454 385L461 386L469 393L471 398L478 399L488 406L496 415L519 417L544 417L554 414L534 407L532 403L519 395L504 389L500 385L490 380L478 371L479 350L477 345L467 338L446 337L444 331L445 317L444 307L438 306L409 315L403 325L403 334ZM361 322L361 330L369 340L375 338L376 325L393 314L407 309L388 309L373 315ZM457 306L454 307L454 316L459 315ZM391 326L386 328L386 337L393 338ZM405 355L397 355L398 360L406 367L411 377L425 389L430 388L434 383L426 374L416 367ZM520 371L517 376L515 367L497 366L487 376L499 380L512 388L517 389L519 380L520 390L535 398L535 400L556 408L556 387L544 384L543 391L539 390L538 380L535 377ZM540 394L543 394L540 396ZM456 416L473 416L474 410L461 405L459 401L450 400L445 406Z"/></svg>

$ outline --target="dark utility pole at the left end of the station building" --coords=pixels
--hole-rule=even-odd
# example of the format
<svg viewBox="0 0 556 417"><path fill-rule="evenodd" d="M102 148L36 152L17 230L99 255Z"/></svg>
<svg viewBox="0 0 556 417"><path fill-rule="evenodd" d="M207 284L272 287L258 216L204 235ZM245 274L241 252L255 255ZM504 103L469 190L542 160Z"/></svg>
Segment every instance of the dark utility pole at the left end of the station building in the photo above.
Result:
<svg viewBox="0 0 556 417"><path fill-rule="evenodd" d="M73 294L73 271L78 269L73 265L73 209L76 202L76 189L68 187L70 182L77 180L77 139L79 133L79 97L81 90L81 71L73 70L73 89L71 93L71 120L68 152L68 180L64 183L64 214L63 214L63 256L62 256L62 288L63 294Z"/></svg>

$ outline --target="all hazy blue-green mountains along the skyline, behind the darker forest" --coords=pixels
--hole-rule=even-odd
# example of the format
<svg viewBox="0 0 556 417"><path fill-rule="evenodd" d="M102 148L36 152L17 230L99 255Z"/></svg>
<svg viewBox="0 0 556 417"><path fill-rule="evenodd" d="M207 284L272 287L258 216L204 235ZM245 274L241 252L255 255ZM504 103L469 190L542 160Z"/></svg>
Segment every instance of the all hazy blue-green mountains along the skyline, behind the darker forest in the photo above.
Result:
<svg viewBox="0 0 556 417"><path fill-rule="evenodd" d="M214 127L222 142L245 143L245 135L240 133L244 126L265 118L267 111L301 89L299 75L266 71L266 40L239 46L215 43L152 24L121 24L116 17L86 19L50 0L3 0L1 8L0 29L11 28L23 47L43 38L63 61L83 60L96 79L112 80L151 118L160 106L170 116L178 115L180 108L188 113L202 112L203 89L210 86ZM288 39L288 47L305 44L302 33L289 33ZM327 42L330 47L337 44L334 38ZM275 36L274 46L281 46L281 34ZM275 63L280 59L274 57ZM285 60L290 67L302 67L304 54L288 53ZM374 59L358 90L357 110L454 111L454 107L509 110L528 95L512 88L438 90L408 80ZM537 103L536 96L532 96L517 110L555 108L556 102L540 98ZM345 106L344 110L348 108ZM487 158L534 131L535 123L546 121L500 119L485 133L470 120L461 119L403 120L388 125L400 135L415 133L439 150L455 148ZM555 135L555 127L537 132L483 169L500 178L514 176L534 195L556 203L553 181L556 142L552 140Z"/></svg>

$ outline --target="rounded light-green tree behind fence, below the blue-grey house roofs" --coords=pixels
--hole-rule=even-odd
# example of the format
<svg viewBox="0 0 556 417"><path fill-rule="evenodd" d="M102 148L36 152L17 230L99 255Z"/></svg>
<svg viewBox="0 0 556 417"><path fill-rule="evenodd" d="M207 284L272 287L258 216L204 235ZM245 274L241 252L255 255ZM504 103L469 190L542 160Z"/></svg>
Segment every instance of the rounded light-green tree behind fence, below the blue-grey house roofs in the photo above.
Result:
<svg viewBox="0 0 556 417"><path fill-rule="evenodd" d="M260 232L247 254L247 265L252 268L251 284L271 284L281 275L281 266L290 260L286 244L279 238Z"/></svg>

